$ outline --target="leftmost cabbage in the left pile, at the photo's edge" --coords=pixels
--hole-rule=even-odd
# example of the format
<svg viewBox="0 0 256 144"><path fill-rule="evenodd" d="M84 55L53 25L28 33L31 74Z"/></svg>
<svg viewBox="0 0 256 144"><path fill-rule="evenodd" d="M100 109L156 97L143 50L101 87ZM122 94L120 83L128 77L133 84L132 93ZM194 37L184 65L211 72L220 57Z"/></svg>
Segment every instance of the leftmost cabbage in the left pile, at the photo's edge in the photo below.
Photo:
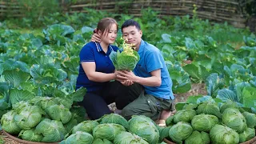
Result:
<svg viewBox="0 0 256 144"><path fill-rule="evenodd" d="M14 110L10 110L6 114L2 115L1 126L2 130L5 130L9 134L18 134L22 129L14 121L14 116L17 113Z"/></svg>

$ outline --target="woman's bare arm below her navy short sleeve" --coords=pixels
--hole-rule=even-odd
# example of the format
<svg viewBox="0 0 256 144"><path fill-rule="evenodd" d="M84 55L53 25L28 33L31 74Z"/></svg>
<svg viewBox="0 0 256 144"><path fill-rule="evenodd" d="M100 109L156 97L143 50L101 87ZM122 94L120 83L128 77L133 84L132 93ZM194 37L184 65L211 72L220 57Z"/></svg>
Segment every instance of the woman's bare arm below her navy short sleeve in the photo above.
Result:
<svg viewBox="0 0 256 144"><path fill-rule="evenodd" d="M97 72L95 62L82 62L82 69L85 71L86 76L90 81L94 82L109 82L116 78L116 74L106 74Z"/></svg>

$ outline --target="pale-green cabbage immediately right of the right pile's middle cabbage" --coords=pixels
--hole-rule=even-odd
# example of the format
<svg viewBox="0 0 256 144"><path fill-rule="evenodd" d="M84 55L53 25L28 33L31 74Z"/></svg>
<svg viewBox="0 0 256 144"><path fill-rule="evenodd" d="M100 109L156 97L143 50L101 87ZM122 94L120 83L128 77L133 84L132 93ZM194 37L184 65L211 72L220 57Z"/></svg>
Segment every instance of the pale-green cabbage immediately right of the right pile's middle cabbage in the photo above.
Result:
<svg viewBox="0 0 256 144"><path fill-rule="evenodd" d="M227 108L224 110L222 122L231 129L237 130L238 133L242 133L247 128L246 118L238 109Z"/></svg>

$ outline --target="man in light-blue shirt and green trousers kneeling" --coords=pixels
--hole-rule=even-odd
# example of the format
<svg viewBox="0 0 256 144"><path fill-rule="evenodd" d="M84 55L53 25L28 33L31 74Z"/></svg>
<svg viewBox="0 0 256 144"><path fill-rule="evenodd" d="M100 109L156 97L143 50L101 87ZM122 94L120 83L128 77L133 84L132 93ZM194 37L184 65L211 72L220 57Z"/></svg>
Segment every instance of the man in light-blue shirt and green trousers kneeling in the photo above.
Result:
<svg viewBox="0 0 256 144"><path fill-rule="evenodd" d="M135 82L144 88L138 98L122 109L122 116L130 119L132 115L146 115L156 120L162 112L161 119L168 118L174 95L170 75L160 50L142 40L142 30L138 22L132 19L122 24L122 37L136 47L140 60L133 72L119 70L117 80L126 86Z"/></svg>

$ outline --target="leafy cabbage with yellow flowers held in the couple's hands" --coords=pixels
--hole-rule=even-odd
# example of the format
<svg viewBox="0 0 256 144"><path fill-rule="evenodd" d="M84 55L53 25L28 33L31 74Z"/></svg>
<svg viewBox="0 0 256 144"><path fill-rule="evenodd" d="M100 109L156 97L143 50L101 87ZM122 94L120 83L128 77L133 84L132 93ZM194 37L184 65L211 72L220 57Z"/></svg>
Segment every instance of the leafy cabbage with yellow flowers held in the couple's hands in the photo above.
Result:
<svg viewBox="0 0 256 144"><path fill-rule="evenodd" d="M137 62L139 61L138 52L133 50L130 44L127 44L125 41L122 43L121 52L112 51L110 54L110 60L113 62L113 65L116 70L134 70Z"/></svg>

